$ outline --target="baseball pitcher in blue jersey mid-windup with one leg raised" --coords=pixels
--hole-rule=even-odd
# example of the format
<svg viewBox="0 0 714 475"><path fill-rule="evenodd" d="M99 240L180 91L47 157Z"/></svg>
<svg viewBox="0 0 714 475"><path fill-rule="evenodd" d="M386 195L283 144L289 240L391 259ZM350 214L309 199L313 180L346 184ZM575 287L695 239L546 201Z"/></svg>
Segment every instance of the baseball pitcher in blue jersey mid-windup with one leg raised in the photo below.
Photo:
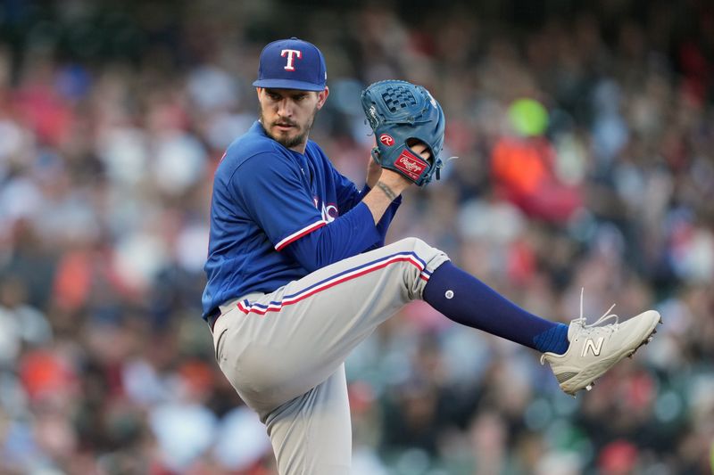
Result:
<svg viewBox="0 0 714 475"><path fill-rule="evenodd" d="M571 395L652 338L649 310L569 325L512 304L418 238L384 245L402 192L439 177L444 111L422 86L361 95L376 147L359 189L308 137L328 100L320 50L265 46L260 117L216 170L203 318L220 369L266 425L283 475L350 471L345 357L415 299L445 317L534 348ZM609 322L609 323L608 323Z"/></svg>

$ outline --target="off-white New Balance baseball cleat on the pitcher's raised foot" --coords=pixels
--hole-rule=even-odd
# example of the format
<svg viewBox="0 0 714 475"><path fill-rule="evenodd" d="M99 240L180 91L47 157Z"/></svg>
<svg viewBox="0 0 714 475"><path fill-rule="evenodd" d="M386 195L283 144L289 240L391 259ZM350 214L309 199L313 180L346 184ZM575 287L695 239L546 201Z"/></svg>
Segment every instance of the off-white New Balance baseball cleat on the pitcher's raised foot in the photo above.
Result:
<svg viewBox="0 0 714 475"><path fill-rule="evenodd" d="M547 361L551 365L560 389L566 394L575 397L580 389L592 389L595 379L652 341L657 324L662 322L659 312L647 310L619 323L618 315L609 315L612 307L597 322L585 324L581 294L580 318L570 322L568 328L568 350L562 355L541 356L541 364ZM614 323L602 324L613 319Z"/></svg>

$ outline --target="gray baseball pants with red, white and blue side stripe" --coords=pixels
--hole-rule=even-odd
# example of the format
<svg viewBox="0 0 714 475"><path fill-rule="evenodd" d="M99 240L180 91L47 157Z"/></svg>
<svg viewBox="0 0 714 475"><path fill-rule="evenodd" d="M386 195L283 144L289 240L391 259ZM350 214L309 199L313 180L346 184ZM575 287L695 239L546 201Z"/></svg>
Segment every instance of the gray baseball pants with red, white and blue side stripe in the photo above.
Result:
<svg viewBox="0 0 714 475"><path fill-rule="evenodd" d="M350 472L345 358L446 260L408 238L220 307L216 359L266 425L281 475Z"/></svg>

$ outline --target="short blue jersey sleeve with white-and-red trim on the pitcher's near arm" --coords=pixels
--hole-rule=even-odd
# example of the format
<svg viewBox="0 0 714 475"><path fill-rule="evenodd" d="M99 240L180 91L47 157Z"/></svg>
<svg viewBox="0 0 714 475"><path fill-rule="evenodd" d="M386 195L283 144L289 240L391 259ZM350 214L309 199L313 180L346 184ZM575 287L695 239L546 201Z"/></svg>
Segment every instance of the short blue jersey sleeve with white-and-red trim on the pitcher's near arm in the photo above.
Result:
<svg viewBox="0 0 714 475"><path fill-rule="evenodd" d="M276 250L327 225L303 182L300 168L278 153L259 153L231 178L239 201Z"/></svg>

